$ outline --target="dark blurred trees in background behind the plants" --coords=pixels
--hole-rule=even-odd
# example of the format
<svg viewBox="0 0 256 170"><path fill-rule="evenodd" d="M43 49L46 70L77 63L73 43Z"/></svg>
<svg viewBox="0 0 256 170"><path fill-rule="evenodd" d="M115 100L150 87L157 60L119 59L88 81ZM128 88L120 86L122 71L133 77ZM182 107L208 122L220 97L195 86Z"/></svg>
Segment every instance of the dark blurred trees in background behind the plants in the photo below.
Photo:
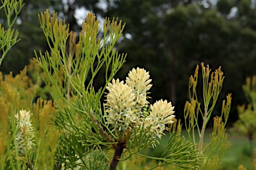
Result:
<svg viewBox="0 0 256 170"><path fill-rule="evenodd" d="M39 13L55 10L60 19L70 24L71 30L79 33L83 19L92 11L101 23L105 17L118 17L126 23L116 48L127 53L127 62L117 77L124 79L137 66L148 70L153 79L151 102L160 98L173 102L177 118L183 118L189 76L201 62L213 70L221 66L225 74L213 116L221 114L222 100L232 93L228 124L232 126L238 118L237 105L247 102L241 86L247 76L256 74L256 1L25 0L24 3L14 27L21 41L3 61L0 68L3 74L19 73L35 56L34 50L48 49L39 27ZM0 23L6 24L4 10L0 13ZM100 84L100 78L98 81ZM99 84L96 82L95 86Z"/></svg>

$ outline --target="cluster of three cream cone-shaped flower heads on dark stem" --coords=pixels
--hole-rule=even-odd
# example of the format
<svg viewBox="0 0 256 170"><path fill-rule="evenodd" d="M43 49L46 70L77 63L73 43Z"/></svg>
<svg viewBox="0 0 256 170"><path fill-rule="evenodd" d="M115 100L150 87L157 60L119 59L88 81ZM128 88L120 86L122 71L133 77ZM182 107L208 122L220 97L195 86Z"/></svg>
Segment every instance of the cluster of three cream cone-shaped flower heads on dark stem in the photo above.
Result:
<svg viewBox="0 0 256 170"><path fill-rule="evenodd" d="M106 112L107 124L113 126L118 139L123 139L127 129L133 129L144 123L145 128L151 128L152 137L160 137L166 124L173 123L173 109L171 102L160 100L151 105L150 114L145 114L149 102L147 91L152 87L149 72L141 68L133 68L125 83L113 79L107 85Z"/></svg>

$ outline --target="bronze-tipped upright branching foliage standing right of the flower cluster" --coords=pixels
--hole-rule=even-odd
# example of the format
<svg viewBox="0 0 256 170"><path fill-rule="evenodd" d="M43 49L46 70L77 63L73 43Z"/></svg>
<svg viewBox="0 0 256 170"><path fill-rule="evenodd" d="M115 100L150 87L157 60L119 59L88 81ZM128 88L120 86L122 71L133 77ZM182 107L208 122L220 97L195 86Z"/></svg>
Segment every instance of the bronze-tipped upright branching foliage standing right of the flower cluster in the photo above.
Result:
<svg viewBox="0 0 256 170"><path fill-rule="evenodd" d="M223 85L223 72L219 67L215 72L211 72L209 65L204 66L201 63L202 78L203 78L203 106L199 102L197 80L199 74L199 66L195 69L194 76L189 78L189 97L191 102L186 102L184 109L185 127L187 129L189 140L195 141L195 133L199 134L199 153L205 153L205 149L210 147L211 152L205 155L205 164L202 169L218 169L221 159L227 153L231 143L227 140L228 135L225 132L225 125L229 117L231 107L231 94L227 95L227 101L223 100L221 117L213 118L213 132L210 134L211 141L205 145L203 143L205 128L213 108L217 103L219 93ZM203 125L199 125L199 118L203 118ZM201 127L200 127L201 126ZM192 133L192 134L191 134Z"/></svg>

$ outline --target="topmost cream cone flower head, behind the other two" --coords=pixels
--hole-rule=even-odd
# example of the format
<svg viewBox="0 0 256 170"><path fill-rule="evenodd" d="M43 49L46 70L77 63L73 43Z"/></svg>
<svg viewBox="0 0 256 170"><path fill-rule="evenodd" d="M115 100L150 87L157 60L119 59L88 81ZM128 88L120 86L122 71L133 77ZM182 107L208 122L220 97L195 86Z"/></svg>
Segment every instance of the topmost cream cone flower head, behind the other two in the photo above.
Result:
<svg viewBox="0 0 256 170"><path fill-rule="evenodd" d="M144 68L133 68L126 78L126 84L128 84L136 96L136 102L143 108L147 102L147 90L152 87L149 84L152 80L149 79L149 72L146 72Z"/></svg>

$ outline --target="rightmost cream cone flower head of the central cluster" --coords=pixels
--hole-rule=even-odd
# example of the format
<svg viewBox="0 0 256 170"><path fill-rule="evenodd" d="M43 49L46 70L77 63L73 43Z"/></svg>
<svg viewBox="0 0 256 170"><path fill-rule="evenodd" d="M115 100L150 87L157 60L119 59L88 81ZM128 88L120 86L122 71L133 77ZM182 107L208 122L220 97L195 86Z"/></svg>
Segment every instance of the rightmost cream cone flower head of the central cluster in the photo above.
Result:
<svg viewBox="0 0 256 170"><path fill-rule="evenodd" d="M174 114L174 106L167 100L159 100L150 106L150 114L145 118L145 128L151 126L153 134L161 139L166 124L172 124Z"/></svg>

